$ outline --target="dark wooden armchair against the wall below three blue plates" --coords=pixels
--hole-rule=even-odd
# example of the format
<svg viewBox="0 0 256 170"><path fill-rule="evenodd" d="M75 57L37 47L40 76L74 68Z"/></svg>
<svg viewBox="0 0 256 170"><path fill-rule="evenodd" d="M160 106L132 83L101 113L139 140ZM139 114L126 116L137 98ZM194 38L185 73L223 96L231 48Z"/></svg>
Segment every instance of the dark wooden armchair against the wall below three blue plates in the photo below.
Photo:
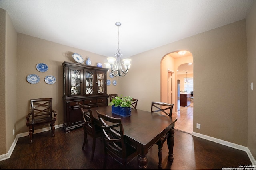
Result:
<svg viewBox="0 0 256 170"><path fill-rule="evenodd" d="M34 129L39 125L50 124L52 137L55 136L56 111L52 109L52 98L31 99L31 112L26 116L29 128L29 143L32 143Z"/></svg>

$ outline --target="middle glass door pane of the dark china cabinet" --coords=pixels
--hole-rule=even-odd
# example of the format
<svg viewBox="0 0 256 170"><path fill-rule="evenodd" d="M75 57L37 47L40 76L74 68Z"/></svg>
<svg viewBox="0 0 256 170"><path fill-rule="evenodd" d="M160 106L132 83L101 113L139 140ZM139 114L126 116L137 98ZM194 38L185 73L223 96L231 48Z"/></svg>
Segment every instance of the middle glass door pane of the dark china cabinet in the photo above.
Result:
<svg viewBox="0 0 256 170"><path fill-rule="evenodd" d="M90 95L94 94L94 71L90 70L85 70L84 71L84 83L85 83L85 88L84 88L84 95Z"/></svg>

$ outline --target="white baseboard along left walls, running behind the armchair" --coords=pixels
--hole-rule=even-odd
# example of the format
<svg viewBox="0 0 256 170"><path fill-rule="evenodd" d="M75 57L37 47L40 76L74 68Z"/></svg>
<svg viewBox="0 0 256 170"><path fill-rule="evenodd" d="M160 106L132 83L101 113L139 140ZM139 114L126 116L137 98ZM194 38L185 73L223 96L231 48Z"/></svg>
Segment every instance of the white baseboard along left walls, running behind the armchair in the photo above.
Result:
<svg viewBox="0 0 256 170"><path fill-rule="evenodd" d="M62 126L63 125L55 125L54 127L55 127L55 129L57 129L57 128L62 127ZM41 133L41 132L44 132L44 131L50 131L50 130L51 130L50 126L49 127L44 127L42 129L35 130L34 134ZM12 152L13 152L15 146L16 146L16 143L17 143L18 139L20 137L25 137L25 136L28 136L28 132L20 133L20 134L16 135L16 137L15 137L15 139L14 139L14 141L12 143L12 146L10 147L8 153L0 155L0 161L9 159L11 157L11 155L12 155Z"/></svg>

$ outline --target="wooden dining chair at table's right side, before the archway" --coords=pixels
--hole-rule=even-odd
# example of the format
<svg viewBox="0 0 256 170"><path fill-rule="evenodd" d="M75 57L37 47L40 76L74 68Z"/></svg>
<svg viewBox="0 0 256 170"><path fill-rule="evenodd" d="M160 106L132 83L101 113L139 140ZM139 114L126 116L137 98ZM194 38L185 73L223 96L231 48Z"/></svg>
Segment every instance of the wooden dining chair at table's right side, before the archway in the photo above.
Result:
<svg viewBox="0 0 256 170"><path fill-rule="evenodd" d="M172 117L172 109L173 104L165 103L165 102L151 102L151 113L155 112L163 112L164 114ZM169 133L165 134L161 139L156 142L158 145L158 168L162 168L162 147L164 142L168 138Z"/></svg>

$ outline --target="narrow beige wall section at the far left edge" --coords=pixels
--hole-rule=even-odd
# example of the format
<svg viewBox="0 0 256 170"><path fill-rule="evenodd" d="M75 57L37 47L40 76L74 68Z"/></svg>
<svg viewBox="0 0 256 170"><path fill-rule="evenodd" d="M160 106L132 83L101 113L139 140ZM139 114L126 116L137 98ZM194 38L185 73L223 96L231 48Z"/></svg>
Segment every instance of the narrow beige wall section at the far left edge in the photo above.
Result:
<svg viewBox="0 0 256 170"><path fill-rule="evenodd" d="M15 135L16 123L16 75L17 75L17 33L10 16L5 10L0 9L0 154L5 154L10 149Z"/></svg>

